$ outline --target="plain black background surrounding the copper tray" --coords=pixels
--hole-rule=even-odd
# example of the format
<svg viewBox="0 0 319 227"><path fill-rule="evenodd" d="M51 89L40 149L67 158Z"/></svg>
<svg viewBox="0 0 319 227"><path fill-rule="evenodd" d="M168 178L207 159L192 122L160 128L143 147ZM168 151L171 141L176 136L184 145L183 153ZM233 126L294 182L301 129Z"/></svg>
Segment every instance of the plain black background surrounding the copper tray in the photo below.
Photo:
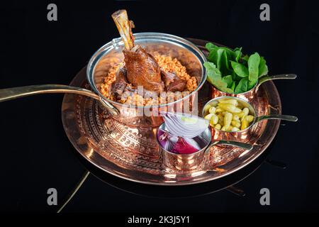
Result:
<svg viewBox="0 0 319 227"><path fill-rule="evenodd" d="M50 3L57 4L57 21L47 21ZM262 3L270 5L271 21L259 20ZM319 16L313 1L8 1L0 9L0 88L69 84L95 50L119 36L111 19L117 9L128 10L135 33L258 51L270 74L298 74L295 81L275 82L283 113L299 118L279 129L269 155L288 168L263 164L237 184L245 197L227 190L189 199L145 197L90 175L64 211L319 211ZM57 189L60 205L84 173L62 127L62 97L0 104L0 211L55 212L57 206L47 206L47 189ZM271 192L270 206L259 204L263 187Z"/></svg>

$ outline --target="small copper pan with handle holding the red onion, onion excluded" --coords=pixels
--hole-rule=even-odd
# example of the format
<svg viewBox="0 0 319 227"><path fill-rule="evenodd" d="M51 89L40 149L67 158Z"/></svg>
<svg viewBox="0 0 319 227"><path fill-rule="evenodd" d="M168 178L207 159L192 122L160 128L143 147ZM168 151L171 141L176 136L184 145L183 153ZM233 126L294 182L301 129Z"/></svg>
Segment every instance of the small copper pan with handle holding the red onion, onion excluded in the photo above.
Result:
<svg viewBox="0 0 319 227"><path fill-rule="evenodd" d="M165 123L162 123L159 126L159 130L167 132L167 128L165 127ZM206 129L201 135L198 136L203 140L206 145L201 148L201 150L196 151L195 153L190 154L178 154L172 153L169 150L165 150L162 148L162 145L159 141L159 133L157 131L157 142L159 143L159 148L162 152L164 165L169 167L171 170L181 170L181 171L190 171L190 170L205 170L205 166L203 165L203 160L205 155L208 154L211 148L215 145L231 145L234 147L242 148L245 150L252 150L252 145L248 143L240 143L237 141L230 140L211 140L211 131L209 128Z"/></svg>

